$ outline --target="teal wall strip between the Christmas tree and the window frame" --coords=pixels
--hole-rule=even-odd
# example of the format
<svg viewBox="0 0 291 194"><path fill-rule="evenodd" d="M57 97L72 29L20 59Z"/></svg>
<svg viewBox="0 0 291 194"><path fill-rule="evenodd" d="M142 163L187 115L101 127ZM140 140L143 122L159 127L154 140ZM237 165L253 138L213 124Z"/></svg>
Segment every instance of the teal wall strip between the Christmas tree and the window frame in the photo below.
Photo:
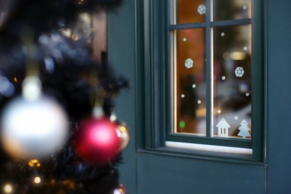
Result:
<svg viewBox="0 0 291 194"><path fill-rule="evenodd" d="M125 121L131 129L130 143L123 152L120 165L120 182L130 194L136 194L135 160L135 29L134 0L123 0L108 16L109 62L117 74L129 79L130 88L123 90L115 100L117 118Z"/></svg>

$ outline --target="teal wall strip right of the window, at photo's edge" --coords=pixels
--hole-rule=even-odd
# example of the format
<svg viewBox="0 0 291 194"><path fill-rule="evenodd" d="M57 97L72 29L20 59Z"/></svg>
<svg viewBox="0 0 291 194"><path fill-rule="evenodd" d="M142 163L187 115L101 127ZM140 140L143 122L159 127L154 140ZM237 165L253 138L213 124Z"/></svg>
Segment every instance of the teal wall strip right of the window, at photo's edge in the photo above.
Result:
<svg viewBox="0 0 291 194"><path fill-rule="evenodd" d="M291 0L267 0L267 193L291 193Z"/></svg>

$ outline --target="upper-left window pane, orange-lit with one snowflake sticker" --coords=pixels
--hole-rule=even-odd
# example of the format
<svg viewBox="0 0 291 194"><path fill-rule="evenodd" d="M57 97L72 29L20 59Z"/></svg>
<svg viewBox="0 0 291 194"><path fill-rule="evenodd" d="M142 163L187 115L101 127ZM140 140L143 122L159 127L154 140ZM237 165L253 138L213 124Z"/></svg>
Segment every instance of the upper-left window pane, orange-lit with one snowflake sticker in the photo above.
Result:
<svg viewBox="0 0 291 194"><path fill-rule="evenodd" d="M177 24L204 22L205 14L205 0L176 0Z"/></svg>

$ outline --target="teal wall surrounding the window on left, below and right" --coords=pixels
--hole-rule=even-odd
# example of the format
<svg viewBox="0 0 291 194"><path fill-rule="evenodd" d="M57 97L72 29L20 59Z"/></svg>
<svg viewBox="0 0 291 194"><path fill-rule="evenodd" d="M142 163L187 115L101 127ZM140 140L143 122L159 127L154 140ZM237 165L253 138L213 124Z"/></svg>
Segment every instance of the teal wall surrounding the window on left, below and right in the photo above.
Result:
<svg viewBox="0 0 291 194"><path fill-rule="evenodd" d="M290 194L291 193L291 0L265 0L266 166L185 159L136 151L135 1L109 13L109 59L129 78L116 99L118 118L131 128L120 165L129 194ZM137 24L138 25L138 24Z"/></svg>

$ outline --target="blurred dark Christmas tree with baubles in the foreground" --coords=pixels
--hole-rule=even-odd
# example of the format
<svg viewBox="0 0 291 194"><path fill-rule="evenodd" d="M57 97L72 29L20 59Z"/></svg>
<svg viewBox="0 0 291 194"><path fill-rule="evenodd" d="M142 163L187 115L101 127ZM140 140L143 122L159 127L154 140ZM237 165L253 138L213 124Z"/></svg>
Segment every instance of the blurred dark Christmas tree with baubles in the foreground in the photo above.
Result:
<svg viewBox="0 0 291 194"><path fill-rule="evenodd" d="M91 54L78 17L119 0L0 0L0 187L4 194L126 194L129 142L113 113L128 85ZM69 32L69 35L68 35Z"/></svg>

